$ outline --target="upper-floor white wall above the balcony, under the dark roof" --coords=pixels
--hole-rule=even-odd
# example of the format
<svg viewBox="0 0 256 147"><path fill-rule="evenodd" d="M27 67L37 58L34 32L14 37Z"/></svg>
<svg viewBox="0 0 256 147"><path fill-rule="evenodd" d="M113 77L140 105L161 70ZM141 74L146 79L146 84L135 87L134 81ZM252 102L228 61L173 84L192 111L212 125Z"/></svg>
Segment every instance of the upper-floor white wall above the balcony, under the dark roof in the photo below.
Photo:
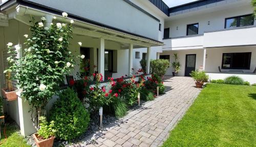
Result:
<svg viewBox="0 0 256 147"><path fill-rule="evenodd" d="M217 10L217 7L215 7L214 9ZM173 20L172 16L170 16L170 20L165 21L164 28L170 28L170 37L186 36L187 24L192 23L199 23L198 34L203 34L205 31L222 30L225 26L225 18L251 14L252 8L250 5L241 6L239 4L236 5L236 7L231 7L229 9L224 9L220 11L211 12L205 10L201 13L189 13L191 14L188 16L176 16ZM208 21L210 21L209 25Z"/></svg>

